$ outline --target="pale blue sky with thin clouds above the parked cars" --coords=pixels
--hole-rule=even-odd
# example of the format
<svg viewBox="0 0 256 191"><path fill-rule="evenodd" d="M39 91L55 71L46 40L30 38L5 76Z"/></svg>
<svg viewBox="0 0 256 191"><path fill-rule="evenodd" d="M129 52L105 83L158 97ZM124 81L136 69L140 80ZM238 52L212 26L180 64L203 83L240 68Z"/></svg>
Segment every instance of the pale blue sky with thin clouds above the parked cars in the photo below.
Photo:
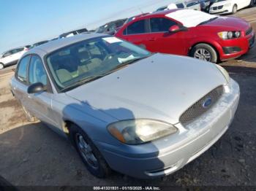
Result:
<svg viewBox="0 0 256 191"><path fill-rule="evenodd" d="M124 17L152 12L173 0L0 0L0 54L52 39L69 30L94 29Z"/></svg>

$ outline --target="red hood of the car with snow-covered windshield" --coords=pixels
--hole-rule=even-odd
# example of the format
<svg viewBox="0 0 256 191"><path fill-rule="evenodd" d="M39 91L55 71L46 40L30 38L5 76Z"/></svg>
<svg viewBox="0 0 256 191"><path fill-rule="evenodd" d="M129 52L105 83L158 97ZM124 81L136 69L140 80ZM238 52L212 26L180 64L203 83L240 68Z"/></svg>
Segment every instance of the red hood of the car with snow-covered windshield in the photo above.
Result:
<svg viewBox="0 0 256 191"><path fill-rule="evenodd" d="M203 26L219 26L223 27L222 30L246 31L249 28L249 23L238 17L217 17L217 19L212 20Z"/></svg>

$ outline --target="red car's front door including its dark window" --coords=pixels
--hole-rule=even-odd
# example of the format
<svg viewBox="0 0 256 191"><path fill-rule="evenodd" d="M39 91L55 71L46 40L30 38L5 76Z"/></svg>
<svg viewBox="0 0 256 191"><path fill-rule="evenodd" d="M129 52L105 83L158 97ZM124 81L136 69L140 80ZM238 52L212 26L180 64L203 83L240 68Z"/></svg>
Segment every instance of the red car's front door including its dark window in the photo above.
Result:
<svg viewBox="0 0 256 191"><path fill-rule="evenodd" d="M178 25L175 21L166 17L151 17L150 34L148 34L149 47L151 52L162 52L176 55L185 55L184 46L185 31L170 33L170 26Z"/></svg>

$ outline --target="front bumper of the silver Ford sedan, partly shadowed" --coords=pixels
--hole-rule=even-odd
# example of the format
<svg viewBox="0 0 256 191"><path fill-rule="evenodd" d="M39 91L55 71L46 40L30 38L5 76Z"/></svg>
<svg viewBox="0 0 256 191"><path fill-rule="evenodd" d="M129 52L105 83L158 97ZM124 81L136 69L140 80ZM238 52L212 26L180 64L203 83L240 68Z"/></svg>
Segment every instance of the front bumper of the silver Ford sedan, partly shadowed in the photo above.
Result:
<svg viewBox="0 0 256 191"><path fill-rule="evenodd" d="M239 101L238 84L231 79L219 101L178 133L147 144L114 147L97 141L110 168L140 179L172 174L200 156L227 130Z"/></svg>

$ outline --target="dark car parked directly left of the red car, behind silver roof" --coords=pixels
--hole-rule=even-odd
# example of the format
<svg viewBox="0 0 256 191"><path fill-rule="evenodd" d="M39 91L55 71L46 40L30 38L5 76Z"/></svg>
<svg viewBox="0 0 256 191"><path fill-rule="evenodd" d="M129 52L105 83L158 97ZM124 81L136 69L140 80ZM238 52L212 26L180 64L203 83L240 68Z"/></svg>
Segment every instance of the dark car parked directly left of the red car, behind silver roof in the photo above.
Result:
<svg viewBox="0 0 256 191"><path fill-rule="evenodd" d="M110 23L106 23L104 26L99 26L99 28L97 28L95 32L113 35L116 33L117 28L120 28L122 25L124 25L124 22L126 20L127 19L111 21Z"/></svg>

